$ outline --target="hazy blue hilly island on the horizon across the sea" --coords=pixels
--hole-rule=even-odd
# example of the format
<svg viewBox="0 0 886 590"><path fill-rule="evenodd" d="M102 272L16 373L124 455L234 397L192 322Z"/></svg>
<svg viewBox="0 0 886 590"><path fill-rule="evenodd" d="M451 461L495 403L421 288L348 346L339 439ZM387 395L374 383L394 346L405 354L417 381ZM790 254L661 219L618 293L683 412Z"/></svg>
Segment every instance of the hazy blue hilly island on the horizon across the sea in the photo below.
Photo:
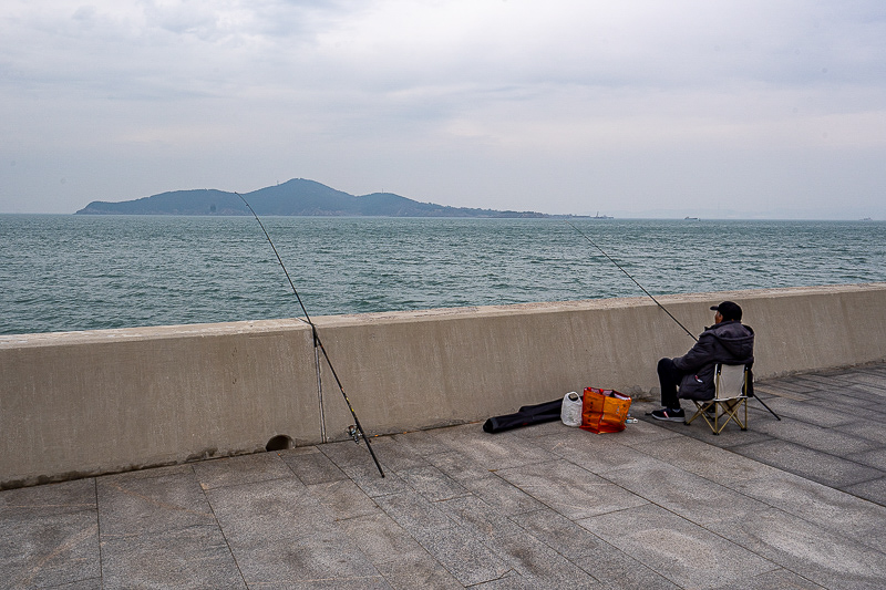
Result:
<svg viewBox="0 0 886 590"><path fill-rule="evenodd" d="M571 218L536 211L499 211L419 203L393 193L354 196L315 180L287 183L245 193L258 215L343 217L499 217ZM120 203L94 200L74 215L251 215L235 193L215 189L173 190Z"/></svg>

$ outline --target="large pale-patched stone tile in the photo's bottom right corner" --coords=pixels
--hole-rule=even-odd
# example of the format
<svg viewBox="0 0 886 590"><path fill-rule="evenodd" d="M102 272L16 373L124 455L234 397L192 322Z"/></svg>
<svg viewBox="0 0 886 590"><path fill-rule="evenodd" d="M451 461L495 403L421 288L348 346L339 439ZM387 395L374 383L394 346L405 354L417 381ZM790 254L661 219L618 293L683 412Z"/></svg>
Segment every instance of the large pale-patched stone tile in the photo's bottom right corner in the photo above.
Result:
<svg viewBox="0 0 886 590"><path fill-rule="evenodd" d="M710 528L825 588L880 589L886 579L883 552L782 510L742 515Z"/></svg>

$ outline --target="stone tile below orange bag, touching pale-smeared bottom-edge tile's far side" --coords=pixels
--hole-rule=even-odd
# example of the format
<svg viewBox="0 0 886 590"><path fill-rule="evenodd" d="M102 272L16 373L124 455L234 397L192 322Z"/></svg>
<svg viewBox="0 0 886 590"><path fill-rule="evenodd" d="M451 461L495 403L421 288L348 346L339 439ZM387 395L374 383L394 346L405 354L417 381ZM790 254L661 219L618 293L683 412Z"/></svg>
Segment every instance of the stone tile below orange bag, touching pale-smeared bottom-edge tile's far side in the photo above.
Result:
<svg viewBox="0 0 886 590"><path fill-rule="evenodd" d="M564 459L499 469L497 474L574 520L647 501Z"/></svg>

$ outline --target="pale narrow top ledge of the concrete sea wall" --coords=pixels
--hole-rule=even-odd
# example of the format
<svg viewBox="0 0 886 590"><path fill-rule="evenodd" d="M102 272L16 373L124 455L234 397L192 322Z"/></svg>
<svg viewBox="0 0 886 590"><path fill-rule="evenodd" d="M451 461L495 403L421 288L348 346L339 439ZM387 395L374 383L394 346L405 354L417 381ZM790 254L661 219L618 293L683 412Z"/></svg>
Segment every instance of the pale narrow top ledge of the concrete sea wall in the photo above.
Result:
<svg viewBox="0 0 886 590"><path fill-rule="evenodd" d="M723 300L783 298L811 294L834 294L848 292L886 290L886 282L854 284L827 284L816 287L783 287L774 289L746 289L740 291L708 291L656 296L663 306L684 303L719 303ZM509 306L478 306L464 308L439 308L414 311L385 311L375 313L353 313L341 315L318 315L313 322L318 328L405 323L421 321L457 320L468 318L493 318L497 315L562 313L570 311L611 310L631 307L656 306L649 297L626 297L612 299L583 299L573 301L552 301L538 303L516 303ZM298 318L277 320L253 320L223 323L195 323L182 325L157 325L144 328L116 328L111 330L85 330L79 332L47 332L34 334L0 335L0 350L31 346L55 346L70 344L94 344L97 342L131 342L141 340L162 340L169 338L207 338L231 334L271 334L310 330Z"/></svg>

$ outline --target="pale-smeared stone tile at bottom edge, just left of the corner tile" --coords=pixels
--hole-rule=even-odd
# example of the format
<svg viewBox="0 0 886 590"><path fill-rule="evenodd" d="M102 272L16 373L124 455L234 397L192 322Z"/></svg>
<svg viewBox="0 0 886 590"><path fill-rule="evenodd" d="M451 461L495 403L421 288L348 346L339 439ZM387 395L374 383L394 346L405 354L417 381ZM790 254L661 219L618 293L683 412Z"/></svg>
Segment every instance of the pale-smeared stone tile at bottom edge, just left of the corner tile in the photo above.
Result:
<svg viewBox="0 0 886 590"><path fill-rule="evenodd" d="M655 505L578 520L578 524L683 588L717 588L776 566L740 545Z"/></svg>

